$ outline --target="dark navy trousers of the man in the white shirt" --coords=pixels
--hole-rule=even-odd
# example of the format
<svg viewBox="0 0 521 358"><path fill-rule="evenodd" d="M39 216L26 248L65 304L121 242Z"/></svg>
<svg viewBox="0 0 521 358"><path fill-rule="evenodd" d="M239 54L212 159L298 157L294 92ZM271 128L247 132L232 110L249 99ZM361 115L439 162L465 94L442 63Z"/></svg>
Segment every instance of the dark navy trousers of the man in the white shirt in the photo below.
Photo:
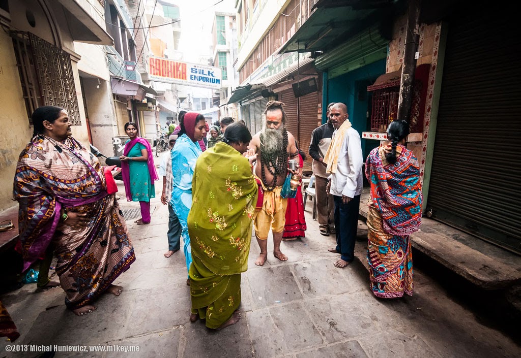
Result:
<svg viewBox="0 0 521 358"><path fill-rule="evenodd" d="M337 234L337 251L340 258L351 262L355 255L356 229L358 228L358 211L360 209L360 196L357 195L347 204L342 203L341 196L334 198L334 228Z"/></svg>

